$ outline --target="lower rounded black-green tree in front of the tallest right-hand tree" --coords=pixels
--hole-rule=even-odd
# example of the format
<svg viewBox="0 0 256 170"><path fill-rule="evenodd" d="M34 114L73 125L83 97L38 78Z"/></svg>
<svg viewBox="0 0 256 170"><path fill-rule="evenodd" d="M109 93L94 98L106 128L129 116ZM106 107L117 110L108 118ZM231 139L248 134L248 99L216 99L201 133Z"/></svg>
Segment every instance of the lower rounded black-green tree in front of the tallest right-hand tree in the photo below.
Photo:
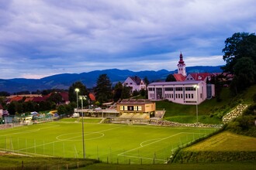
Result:
<svg viewBox="0 0 256 170"><path fill-rule="evenodd" d="M237 63L234 65L234 80L230 84L231 90L235 93L245 90L255 82L255 76L256 66L251 58L243 57L237 59Z"/></svg>

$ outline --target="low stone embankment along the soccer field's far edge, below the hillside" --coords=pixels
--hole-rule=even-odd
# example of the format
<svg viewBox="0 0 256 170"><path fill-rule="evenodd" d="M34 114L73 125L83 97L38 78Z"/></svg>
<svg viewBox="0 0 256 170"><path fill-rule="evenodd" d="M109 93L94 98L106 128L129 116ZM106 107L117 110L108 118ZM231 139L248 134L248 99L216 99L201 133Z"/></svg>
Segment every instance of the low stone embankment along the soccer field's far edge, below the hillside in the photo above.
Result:
<svg viewBox="0 0 256 170"><path fill-rule="evenodd" d="M202 124L202 123L195 123L195 124L182 124L173 121L161 121L162 126L171 126L171 127L196 127L196 128L221 128L223 124Z"/></svg>

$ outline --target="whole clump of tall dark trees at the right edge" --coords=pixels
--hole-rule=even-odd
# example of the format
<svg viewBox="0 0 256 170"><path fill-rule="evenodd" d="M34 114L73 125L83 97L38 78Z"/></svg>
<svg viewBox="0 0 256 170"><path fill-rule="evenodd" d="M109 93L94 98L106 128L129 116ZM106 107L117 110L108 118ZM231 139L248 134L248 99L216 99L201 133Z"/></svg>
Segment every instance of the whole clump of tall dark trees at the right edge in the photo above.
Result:
<svg viewBox="0 0 256 170"><path fill-rule="evenodd" d="M223 71L233 73L230 90L235 94L256 81L256 36L254 33L237 32L225 41Z"/></svg>

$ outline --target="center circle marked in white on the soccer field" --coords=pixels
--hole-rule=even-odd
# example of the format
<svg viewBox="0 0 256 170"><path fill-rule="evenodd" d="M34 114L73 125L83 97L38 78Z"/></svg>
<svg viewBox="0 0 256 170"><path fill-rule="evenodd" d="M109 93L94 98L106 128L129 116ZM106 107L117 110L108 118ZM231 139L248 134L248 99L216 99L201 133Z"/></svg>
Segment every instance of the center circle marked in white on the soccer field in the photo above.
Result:
<svg viewBox="0 0 256 170"><path fill-rule="evenodd" d="M61 135L57 136L56 139L59 140L59 141L81 141L81 136L82 135L76 135L72 138L68 138L68 136L70 134L81 134L81 133L77 132L77 133L61 134ZM92 134L97 134L98 136L96 136L95 138L86 138L85 137L85 141L94 140L94 139L98 139L98 138L103 138L104 135L105 135L101 132L85 132L85 136L89 136L89 135L92 135ZM67 138L65 138L65 136L67 136ZM76 138L80 138L80 139L76 139Z"/></svg>

